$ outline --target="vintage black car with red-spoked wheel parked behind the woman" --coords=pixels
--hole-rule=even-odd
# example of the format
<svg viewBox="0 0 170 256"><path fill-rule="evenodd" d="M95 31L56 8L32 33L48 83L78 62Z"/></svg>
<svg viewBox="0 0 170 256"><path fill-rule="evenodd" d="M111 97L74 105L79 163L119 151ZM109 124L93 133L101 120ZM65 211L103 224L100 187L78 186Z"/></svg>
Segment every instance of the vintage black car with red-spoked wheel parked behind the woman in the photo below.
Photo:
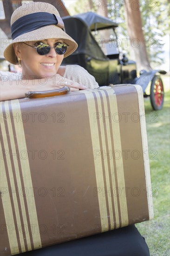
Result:
<svg viewBox="0 0 170 256"><path fill-rule="evenodd" d="M136 62L119 52L118 24L93 12L63 17L65 31L77 43L77 50L62 64L78 64L92 74L99 86L139 84L144 97L150 96L152 108L163 107L163 70L142 70L137 76Z"/></svg>

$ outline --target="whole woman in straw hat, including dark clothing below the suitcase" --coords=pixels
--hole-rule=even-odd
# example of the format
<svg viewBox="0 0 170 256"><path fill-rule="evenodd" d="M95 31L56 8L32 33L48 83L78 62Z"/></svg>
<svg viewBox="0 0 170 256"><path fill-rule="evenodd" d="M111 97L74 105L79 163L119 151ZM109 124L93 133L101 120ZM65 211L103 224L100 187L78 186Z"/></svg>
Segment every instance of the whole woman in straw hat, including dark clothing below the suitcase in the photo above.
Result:
<svg viewBox="0 0 170 256"><path fill-rule="evenodd" d="M22 74L1 72L1 101L23 98L28 91L61 88L71 91L98 88L98 83L78 65L60 66L77 43L64 31L59 12L52 5L34 2L16 9L11 18L12 43L4 56L22 67ZM43 3L44 4L44 3ZM147 256L149 249L135 225L111 230L49 248L23 253L33 256Z"/></svg>

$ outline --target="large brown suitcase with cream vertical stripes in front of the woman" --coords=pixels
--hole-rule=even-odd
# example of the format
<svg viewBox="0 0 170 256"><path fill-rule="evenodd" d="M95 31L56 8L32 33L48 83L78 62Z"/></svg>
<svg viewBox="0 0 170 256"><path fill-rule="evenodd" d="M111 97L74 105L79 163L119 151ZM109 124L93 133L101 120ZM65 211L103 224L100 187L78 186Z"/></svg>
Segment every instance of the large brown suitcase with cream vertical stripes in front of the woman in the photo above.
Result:
<svg viewBox="0 0 170 256"><path fill-rule="evenodd" d="M0 255L153 217L140 86L0 102Z"/></svg>

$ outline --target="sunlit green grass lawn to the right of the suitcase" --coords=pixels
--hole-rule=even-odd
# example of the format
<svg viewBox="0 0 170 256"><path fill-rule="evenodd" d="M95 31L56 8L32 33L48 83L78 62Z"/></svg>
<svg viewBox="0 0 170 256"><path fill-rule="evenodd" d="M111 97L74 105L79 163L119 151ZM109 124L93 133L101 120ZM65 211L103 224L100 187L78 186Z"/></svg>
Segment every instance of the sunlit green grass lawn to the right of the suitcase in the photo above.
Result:
<svg viewBox="0 0 170 256"><path fill-rule="evenodd" d="M150 98L144 99L154 219L136 225L151 256L170 256L170 77L162 79L163 109L153 111Z"/></svg>

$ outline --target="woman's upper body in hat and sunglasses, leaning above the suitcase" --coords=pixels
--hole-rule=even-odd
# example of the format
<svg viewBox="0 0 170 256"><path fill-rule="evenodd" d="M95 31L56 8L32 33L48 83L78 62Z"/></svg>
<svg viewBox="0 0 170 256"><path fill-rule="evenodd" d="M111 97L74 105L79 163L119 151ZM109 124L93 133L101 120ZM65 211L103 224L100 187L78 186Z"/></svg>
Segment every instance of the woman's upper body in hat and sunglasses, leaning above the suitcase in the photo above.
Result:
<svg viewBox="0 0 170 256"><path fill-rule="evenodd" d="M78 47L63 28L59 12L47 3L32 2L13 12L13 41L4 56L22 67L22 74L0 72L1 101L24 98L28 91L61 88L65 82L71 91L98 88L94 77L83 67L60 66L63 58Z"/></svg>

